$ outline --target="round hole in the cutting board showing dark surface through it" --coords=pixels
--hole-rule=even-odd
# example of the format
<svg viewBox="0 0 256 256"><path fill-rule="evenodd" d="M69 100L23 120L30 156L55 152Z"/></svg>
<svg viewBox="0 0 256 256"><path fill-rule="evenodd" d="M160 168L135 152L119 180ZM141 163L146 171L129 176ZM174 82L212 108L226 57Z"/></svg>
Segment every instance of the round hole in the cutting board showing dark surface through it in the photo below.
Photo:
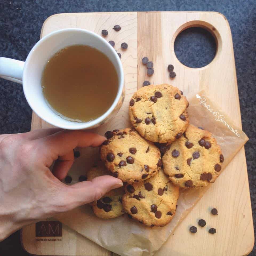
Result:
<svg viewBox="0 0 256 256"><path fill-rule="evenodd" d="M177 59L191 68L200 68L211 63L216 51L214 36L202 27L187 28L181 31L174 41Z"/></svg>

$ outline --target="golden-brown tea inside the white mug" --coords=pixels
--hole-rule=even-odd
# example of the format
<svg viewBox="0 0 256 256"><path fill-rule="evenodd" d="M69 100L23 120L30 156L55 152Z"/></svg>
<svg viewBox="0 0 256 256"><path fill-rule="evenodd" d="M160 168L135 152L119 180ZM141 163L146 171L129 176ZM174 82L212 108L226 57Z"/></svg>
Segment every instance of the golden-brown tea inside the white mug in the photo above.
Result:
<svg viewBox="0 0 256 256"><path fill-rule="evenodd" d="M73 45L49 59L42 74L42 90L61 117L87 122L100 117L112 105L117 95L118 75L101 51Z"/></svg>

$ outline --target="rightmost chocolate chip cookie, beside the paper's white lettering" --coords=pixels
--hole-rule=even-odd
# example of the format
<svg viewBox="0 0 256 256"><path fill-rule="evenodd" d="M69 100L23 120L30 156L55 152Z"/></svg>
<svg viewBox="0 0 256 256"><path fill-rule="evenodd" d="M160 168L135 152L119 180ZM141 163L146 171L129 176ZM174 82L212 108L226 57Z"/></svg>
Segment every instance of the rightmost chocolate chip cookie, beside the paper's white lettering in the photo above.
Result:
<svg viewBox="0 0 256 256"><path fill-rule="evenodd" d="M203 187L219 176L224 161L216 139L209 131L189 125L177 141L167 146L163 169L180 187Z"/></svg>

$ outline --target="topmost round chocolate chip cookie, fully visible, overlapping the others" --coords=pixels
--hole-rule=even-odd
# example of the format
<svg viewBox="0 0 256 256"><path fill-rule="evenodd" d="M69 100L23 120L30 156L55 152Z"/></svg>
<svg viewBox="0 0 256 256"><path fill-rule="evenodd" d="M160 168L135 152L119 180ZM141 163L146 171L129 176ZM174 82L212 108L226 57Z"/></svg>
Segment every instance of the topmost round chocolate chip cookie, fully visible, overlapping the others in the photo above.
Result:
<svg viewBox="0 0 256 256"><path fill-rule="evenodd" d="M171 143L189 124L189 103L177 87L149 85L140 88L129 102L131 123L149 141Z"/></svg>

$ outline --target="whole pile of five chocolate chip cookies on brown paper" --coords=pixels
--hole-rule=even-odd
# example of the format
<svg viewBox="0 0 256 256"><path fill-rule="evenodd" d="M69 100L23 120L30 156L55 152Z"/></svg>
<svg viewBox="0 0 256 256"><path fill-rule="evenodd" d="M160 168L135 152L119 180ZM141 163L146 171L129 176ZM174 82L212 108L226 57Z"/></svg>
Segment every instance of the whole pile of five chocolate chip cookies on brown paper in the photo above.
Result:
<svg viewBox="0 0 256 256"><path fill-rule="evenodd" d="M102 163L88 180L113 175L124 187L92 203L100 218L128 213L147 226L165 226L173 218L179 188L213 183L224 157L209 131L189 124L189 103L171 85L145 86L129 102L131 128L107 131Z"/></svg>

